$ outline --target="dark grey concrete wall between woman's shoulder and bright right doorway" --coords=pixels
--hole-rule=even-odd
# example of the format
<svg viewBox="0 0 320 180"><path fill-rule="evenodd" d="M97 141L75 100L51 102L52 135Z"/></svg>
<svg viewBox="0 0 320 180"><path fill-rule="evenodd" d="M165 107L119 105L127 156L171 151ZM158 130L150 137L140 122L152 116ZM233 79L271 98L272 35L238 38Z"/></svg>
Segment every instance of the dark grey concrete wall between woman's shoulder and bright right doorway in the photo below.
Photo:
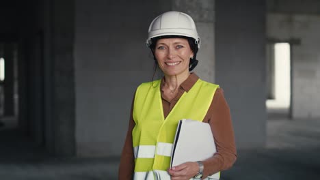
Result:
<svg viewBox="0 0 320 180"><path fill-rule="evenodd" d="M264 147L264 1L216 1L215 74L230 106L238 148Z"/></svg>

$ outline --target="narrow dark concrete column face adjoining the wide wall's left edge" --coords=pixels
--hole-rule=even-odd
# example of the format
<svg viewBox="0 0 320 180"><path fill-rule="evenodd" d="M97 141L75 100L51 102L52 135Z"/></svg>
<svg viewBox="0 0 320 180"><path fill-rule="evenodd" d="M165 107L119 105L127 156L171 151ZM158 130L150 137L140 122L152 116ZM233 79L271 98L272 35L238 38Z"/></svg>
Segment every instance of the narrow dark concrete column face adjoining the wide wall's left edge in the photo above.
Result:
<svg viewBox="0 0 320 180"><path fill-rule="evenodd" d="M51 1L54 152L75 155L75 1Z"/></svg>

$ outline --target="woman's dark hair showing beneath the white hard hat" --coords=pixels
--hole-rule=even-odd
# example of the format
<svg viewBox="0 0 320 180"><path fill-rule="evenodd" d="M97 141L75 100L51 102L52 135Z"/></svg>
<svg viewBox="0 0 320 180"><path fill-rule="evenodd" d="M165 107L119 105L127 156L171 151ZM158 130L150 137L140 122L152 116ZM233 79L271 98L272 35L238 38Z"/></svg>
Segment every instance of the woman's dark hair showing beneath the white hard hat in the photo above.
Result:
<svg viewBox="0 0 320 180"><path fill-rule="evenodd" d="M198 65L198 60L196 59L197 56L197 52L198 52L198 45L196 44L196 40L194 40L194 38L192 37L186 37L183 35L162 35L162 36L158 36L158 37L153 37L151 38L151 43L149 48L151 49L152 55L153 55L153 59L155 60L155 63L157 64L157 59L155 58L155 45L157 44L157 41L160 39L164 39L164 38L184 38L186 40L188 40L189 42L189 46L192 50L192 52L194 52L194 57L190 58L190 62L189 62L189 71L194 70L194 67L196 67Z"/></svg>

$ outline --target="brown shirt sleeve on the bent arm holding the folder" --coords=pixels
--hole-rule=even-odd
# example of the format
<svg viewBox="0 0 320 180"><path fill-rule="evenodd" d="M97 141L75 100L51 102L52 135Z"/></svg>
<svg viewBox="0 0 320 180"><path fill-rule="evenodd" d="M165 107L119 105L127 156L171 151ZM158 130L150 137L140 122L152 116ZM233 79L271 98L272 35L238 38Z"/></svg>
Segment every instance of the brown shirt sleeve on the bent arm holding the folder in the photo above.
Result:
<svg viewBox="0 0 320 180"><path fill-rule="evenodd" d="M222 89L219 88L215 91L213 101L204 121L210 124L217 153L213 157L203 161L203 178L230 168L237 160L230 109L224 98L224 91Z"/></svg>

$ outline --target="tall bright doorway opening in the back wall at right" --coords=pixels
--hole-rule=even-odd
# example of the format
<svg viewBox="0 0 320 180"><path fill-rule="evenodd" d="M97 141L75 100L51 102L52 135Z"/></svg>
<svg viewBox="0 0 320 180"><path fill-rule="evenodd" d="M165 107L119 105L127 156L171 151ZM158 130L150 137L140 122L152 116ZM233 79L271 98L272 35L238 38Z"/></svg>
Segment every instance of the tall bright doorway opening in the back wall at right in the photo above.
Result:
<svg viewBox="0 0 320 180"><path fill-rule="evenodd" d="M269 118L291 117L291 44L267 44L267 100Z"/></svg>

